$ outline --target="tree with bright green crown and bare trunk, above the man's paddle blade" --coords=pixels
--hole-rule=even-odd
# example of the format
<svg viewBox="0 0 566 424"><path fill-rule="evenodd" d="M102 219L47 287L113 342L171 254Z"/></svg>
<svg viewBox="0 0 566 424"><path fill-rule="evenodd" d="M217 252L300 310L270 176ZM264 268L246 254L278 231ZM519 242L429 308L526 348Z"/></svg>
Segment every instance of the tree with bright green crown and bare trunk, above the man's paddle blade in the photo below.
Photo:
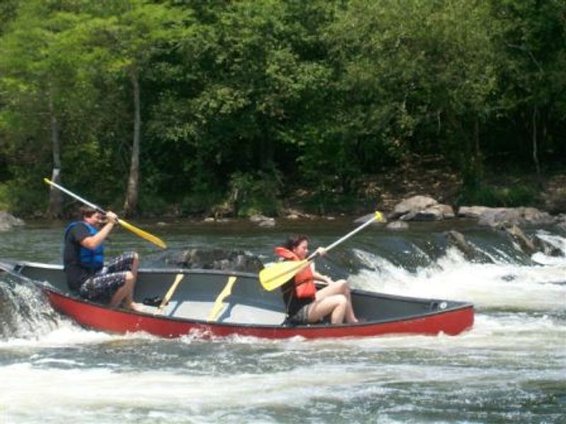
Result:
<svg viewBox="0 0 566 424"><path fill-rule="evenodd" d="M91 19L81 28L91 61L113 78L127 76L133 105L133 139L124 213L135 213L139 197L141 146L141 73L149 72L152 59L175 47L190 16L166 3L120 0L93 4Z"/></svg>

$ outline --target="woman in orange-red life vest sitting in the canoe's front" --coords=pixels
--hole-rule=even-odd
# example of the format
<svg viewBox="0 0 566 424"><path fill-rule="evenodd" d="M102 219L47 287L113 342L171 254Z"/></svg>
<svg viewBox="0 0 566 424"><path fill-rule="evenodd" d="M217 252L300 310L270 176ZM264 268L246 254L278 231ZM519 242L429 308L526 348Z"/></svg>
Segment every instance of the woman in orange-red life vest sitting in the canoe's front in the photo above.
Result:
<svg viewBox="0 0 566 424"><path fill-rule="evenodd" d="M325 249L317 249L319 255ZM308 256L308 237L295 235L289 237L275 253L288 261L301 261ZM316 290L315 281L328 283L325 288ZM333 281L328 276L316 272L309 264L296 273L294 278L282 285L283 299L287 307L287 318L293 324L313 324L330 315L332 324L358 322L352 308L350 287L345 280Z"/></svg>

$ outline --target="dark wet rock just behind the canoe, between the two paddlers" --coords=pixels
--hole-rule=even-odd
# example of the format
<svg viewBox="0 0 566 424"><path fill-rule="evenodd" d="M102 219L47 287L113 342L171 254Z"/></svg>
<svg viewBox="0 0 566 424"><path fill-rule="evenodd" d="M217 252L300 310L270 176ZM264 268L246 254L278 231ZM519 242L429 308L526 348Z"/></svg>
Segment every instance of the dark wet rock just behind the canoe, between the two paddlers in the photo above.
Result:
<svg viewBox="0 0 566 424"><path fill-rule="evenodd" d="M164 261L189 269L259 272L263 268L258 257L241 249L186 249L168 254Z"/></svg>

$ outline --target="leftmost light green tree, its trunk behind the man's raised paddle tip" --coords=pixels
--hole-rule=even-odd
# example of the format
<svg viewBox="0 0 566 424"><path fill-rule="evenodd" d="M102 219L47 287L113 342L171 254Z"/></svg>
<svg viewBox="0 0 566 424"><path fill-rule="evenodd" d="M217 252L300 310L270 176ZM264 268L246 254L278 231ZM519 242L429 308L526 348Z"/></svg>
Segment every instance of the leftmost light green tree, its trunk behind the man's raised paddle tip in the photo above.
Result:
<svg viewBox="0 0 566 424"><path fill-rule="evenodd" d="M0 122L9 134L6 139L10 140L5 148L25 149L32 162L37 160L33 167L37 163L43 167L46 161L37 155L45 152L42 141L50 139L54 181L62 176L62 117L78 107L77 101L84 94L76 71L79 64L74 43L69 39L69 32L79 20L79 15L62 11L54 3L20 2L0 47L4 102ZM23 158L26 159L29 158ZM21 183L27 180L23 176ZM51 191L48 213L51 216L62 213L62 195L57 190Z"/></svg>

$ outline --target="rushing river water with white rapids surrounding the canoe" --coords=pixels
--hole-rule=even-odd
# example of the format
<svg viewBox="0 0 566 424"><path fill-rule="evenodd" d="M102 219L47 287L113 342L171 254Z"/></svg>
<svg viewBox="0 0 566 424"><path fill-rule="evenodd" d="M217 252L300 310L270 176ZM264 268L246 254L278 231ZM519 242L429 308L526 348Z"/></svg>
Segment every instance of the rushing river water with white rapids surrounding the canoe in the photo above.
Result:
<svg viewBox="0 0 566 424"><path fill-rule="evenodd" d="M318 246L354 228L350 220L140 226L173 252L229 247L263 261L289 232L308 232ZM451 229L475 247L473 259L447 244ZM33 223L1 233L0 257L59 263L62 231L63 223ZM33 284L0 274L0 422L566 423L566 233L528 234L562 256L533 261L501 232L458 222L371 227L317 261L357 288L473 302L473 329L459 336L110 335L77 326ZM109 254L124 249L136 249L142 266L166 266L157 247L119 230Z"/></svg>

